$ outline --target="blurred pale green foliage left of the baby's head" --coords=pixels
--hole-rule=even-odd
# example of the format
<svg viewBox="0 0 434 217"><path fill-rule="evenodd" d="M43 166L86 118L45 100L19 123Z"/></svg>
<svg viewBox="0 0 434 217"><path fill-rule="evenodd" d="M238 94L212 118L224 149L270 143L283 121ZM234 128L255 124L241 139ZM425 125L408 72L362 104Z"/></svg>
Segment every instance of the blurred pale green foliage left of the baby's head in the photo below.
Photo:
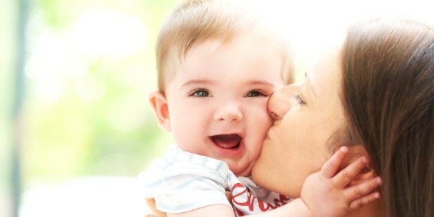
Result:
<svg viewBox="0 0 434 217"><path fill-rule="evenodd" d="M171 144L147 95L156 88L158 29L177 2L31 1L20 135L25 187L70 176L136 176ZM12 89L16 4L0 3L0 48L10 54L0 58L1 93ZM10 144L12 100L8 94L0 100L0 142ZM6 166L0 176L7 180L10 147L0 148Z"/></svg>

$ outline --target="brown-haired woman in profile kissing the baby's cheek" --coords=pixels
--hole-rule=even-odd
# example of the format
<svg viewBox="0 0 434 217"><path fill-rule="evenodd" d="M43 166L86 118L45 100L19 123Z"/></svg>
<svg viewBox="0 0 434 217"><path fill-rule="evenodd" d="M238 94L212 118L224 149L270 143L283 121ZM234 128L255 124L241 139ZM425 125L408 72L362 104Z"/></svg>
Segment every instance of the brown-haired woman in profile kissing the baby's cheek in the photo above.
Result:
<svg viewBox="0 0 434 217"><path fill-rule="evenodd" d="M434 215L433 26L358 23L268 106L275 122L252 171L259 185L299 198L306 177L348 146L342 167L366 155L372 163L358 180L384 182L381 200L352 216Z"/></svg>

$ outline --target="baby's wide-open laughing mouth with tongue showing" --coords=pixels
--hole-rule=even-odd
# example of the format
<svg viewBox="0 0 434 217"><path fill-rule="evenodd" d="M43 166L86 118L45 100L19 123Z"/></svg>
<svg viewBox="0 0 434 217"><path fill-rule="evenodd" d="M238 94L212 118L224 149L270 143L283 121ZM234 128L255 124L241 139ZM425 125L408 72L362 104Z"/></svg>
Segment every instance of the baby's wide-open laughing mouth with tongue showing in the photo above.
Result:
<svg viewBox="0 0 434 217"><path fill-rule="evenodd" d="M242 152L240 144L242 144L243 138L238 134L213 135L210 139L220 153L238 155Z"/></svg>

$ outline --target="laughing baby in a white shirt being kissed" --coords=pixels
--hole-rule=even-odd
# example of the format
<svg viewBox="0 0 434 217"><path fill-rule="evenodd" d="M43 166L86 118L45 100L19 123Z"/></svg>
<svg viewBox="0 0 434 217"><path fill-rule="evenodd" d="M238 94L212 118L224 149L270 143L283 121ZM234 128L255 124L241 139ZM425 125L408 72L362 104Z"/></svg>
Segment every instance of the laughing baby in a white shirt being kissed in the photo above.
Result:
<svg viewBox="0 0 434 217"><path fill-rule="evenodd" d="M249 178L272 125L268 98L293 82L291 57L281 35L233 1L185 1L176 8L160 30L159 91L149 97L158 124L173 134L176 145L140 174L144 197L155 198L156 208L169 216L243 216L273 209L264 214L312 214L316 207L305 201L321 195L290 202ZM338 156L330 159L334 171L342 153ZM364 164L350 166L349 174L356 176ZM327 183L303 190L331 189ZM361 185L364 195L377 187ZM225 191L232 192L231 202ZM359 198L337 202L337 209ZM331 215L342 211L348 209Z"/></svg>

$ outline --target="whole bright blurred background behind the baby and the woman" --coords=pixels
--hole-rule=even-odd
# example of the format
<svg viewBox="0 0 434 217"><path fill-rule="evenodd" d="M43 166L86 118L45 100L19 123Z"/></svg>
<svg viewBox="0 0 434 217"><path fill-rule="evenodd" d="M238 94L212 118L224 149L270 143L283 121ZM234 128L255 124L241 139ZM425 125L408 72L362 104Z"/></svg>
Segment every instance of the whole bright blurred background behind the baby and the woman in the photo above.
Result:
<svg viewBox="0 0 434 217"><path fill-rule="evenodd" d="M134 177L173 142L147 95L156 87L155 38L177 3L0 1L0 216L143 216ZM293 40L298 80L355 19L433 21L430 1L264 3L256 9Z"/></svg>

